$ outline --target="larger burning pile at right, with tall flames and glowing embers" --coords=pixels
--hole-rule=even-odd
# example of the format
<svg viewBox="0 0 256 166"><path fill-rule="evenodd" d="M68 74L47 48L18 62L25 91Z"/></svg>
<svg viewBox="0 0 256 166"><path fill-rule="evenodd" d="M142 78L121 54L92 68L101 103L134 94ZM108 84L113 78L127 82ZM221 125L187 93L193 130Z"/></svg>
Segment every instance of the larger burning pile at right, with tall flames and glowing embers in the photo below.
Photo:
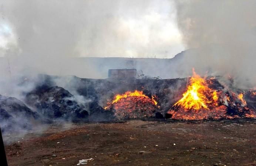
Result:
<svg viewBox="0 0 256 166"><path fill-rule="evenodd" d="M206 80L193 70L183 97L171 107L167 115L180 120L256 117L255 110L247 106L243 93L211 88L214 81L214 77Z"/></svg>

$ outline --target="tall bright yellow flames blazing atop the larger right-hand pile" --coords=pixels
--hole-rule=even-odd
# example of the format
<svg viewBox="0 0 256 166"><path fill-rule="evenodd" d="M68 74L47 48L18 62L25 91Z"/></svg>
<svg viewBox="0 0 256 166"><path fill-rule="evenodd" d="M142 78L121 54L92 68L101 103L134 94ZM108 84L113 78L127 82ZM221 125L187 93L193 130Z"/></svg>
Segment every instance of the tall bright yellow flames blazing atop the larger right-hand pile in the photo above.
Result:
<svg viewBox="0 0 256 166"><path fill-rule="evenodd" d="M208 103L212 103L205 95L212 90L207 86L205 80L195 73L193 70L193 77L190 79L190 84L187 91L183 93L183 97L174 106L181 106L186 110L199 110L201 108L209 109ZM218 100L217 92L212 92L212 98L214 101Z"/></svg>

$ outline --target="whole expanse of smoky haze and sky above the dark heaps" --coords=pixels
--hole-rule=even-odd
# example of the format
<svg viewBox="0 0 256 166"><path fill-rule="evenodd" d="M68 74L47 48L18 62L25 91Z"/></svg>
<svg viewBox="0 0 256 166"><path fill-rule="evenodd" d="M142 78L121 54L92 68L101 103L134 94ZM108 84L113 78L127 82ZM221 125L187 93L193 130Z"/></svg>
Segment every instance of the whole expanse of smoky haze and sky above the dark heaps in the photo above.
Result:
<svg viewBox="0 0 256 166"><path fill-rule="evenodd" d="M0 1L3 80L24 73L106 78L137 68L163 78L232 76L255 86L256 2ZM74 57L185 58L168 60ZM177 58L178 59L178 58ZM132 61L132 63L130 62Z"/></svg>

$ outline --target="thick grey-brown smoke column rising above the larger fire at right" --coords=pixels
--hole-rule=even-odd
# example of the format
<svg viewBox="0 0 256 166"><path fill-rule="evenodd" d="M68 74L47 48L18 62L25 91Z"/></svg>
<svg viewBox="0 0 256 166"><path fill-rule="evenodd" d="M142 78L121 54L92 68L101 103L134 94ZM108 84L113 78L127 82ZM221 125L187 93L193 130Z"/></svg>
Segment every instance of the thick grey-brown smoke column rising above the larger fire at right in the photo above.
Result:
<svg viewBox="0 0 256 166"><path fill-rule="evenodd" d="M176 1L186 49L183 68L230 75L238 87L256 86L256 1Z"/></svg>

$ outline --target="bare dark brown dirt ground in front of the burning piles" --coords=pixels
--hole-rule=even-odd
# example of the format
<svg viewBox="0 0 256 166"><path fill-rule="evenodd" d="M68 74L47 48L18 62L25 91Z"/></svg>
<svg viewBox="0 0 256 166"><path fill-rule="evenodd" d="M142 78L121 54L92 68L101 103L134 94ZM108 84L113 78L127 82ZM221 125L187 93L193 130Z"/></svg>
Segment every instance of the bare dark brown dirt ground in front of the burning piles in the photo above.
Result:
<svg viewBox="0 0 256 166"><path fill-rule="evenodd" d="M142 121L51 125L6 145L10 166L256 165L256 121Z"/></svg>

